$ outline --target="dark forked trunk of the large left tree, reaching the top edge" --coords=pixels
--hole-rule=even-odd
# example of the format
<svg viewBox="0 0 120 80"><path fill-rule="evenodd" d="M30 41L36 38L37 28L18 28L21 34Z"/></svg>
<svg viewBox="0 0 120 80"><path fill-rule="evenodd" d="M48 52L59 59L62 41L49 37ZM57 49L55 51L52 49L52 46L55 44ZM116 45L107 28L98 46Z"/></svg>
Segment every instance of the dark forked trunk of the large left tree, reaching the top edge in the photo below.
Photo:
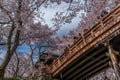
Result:
<svg viewBox="0 0 120 80"><path fill-rule="evenodd" d="M18 26L16 26L14 24L14 21L13 21L13 24L11 26L11 29L10 29L10 32L9 32L9 35L8 35L8 40L7 40L7 53L6 53L6 56L5 56L5 60L3 61L2 65L1 65L1 74L0 74L0 78L3 78L4 77L4 74L5 74L5 69L8 65L8 63L10 62L10 59L11 57L13 56L14 52L16 51L18 45L19 45L19 37L20 37L20 30L19 28L22 28L22 18L21 18L21 6L22 6L22 0L18 0L18 9L17 9L17 18L18 18ZM15 30L15 28L18 28L16 30L16 33L15 33L15 37L14 37L14 42L13 44L11 45L11 40L13 38L13 32Z"/></svg>

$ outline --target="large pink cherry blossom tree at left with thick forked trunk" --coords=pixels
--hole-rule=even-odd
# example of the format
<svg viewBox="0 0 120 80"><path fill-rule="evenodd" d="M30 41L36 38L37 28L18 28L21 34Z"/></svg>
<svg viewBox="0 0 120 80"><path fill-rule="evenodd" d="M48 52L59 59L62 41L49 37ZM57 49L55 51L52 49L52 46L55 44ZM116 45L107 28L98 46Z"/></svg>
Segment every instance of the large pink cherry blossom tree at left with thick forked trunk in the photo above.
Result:
<svg viewBox="0 0 120 80"><path fill-rule="evenodd" d="M0 66L0 77L4 76L5 69L19 45L26 41L38 42L42 37L53 34L47 25L42 25L39 21L35 24L35 20L36 16L43 19L41 6L47 7L51 3L61 2L71 3L72 0L0 0L0 44L7 49ZM54 27L53 32L58 29L58 26ZM43 33L42 30L48 32Z"/></svg>

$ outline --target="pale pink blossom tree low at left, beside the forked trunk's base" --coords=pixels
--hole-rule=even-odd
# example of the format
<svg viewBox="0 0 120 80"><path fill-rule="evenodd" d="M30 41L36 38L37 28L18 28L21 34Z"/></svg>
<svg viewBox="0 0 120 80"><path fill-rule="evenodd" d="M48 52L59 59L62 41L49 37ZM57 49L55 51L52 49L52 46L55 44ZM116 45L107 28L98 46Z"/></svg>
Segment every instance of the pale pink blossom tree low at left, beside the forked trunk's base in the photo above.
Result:
<svg viewBox="0 0 120 80"><path fill-rule="evenodd" d="M26 78L30 77L33 72L29 57L15 52L7 66L5 77Z"/></svg>

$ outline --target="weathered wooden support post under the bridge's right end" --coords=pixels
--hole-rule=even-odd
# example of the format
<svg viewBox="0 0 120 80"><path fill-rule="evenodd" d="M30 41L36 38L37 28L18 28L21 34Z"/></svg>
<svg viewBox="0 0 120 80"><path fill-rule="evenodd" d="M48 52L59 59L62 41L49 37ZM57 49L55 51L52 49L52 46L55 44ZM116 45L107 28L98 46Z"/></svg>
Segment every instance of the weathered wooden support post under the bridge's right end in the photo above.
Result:
<svg viewBox="0 0 120 80"><path fill-rule="evenodd" d="M116 78L117 78L117 80L120 80L119 61L118 61L118 59L115 55L117 51L115 51L113 49L112 45L110 45L109 43L108 43L108 52L109 52L109 55L110 55L110 59L112 61L113 69L115 70Z"/></svg>

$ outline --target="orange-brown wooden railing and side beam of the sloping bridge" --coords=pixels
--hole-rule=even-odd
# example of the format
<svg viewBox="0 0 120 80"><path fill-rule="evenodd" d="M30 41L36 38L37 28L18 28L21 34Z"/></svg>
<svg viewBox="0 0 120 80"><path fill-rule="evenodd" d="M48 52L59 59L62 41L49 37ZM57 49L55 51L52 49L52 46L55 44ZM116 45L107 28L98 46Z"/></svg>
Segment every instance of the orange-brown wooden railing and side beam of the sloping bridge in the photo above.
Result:
<svg viewBox="0 0 120 80"><path fill-rule="evenodd" d="M62 56L57 58L49 67L50 72L55 76L85 51L118 29L120 29L120 5L91 27L83 37L80 37Z"/></svg>

